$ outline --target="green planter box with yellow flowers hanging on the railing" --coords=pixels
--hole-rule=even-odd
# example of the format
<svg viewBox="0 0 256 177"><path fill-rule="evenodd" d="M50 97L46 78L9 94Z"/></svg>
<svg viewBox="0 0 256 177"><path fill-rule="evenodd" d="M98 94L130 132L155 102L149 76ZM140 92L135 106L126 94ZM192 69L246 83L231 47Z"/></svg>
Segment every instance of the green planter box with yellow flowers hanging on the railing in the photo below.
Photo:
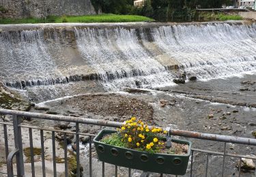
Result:
<svg viewBox="0 0 256 177"><path fill-rule="evenodd" d="M102 130L94 144L98 159L106 163L161 174L186 174L191 142L166 137L132 117L114 130Z"/></svg>

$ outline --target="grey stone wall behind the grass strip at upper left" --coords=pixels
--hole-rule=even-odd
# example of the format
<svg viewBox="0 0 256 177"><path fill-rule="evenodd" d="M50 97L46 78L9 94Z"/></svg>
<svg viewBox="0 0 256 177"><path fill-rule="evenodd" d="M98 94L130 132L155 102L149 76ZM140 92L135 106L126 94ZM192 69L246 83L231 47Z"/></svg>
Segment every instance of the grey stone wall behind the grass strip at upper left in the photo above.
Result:
<svg viewBox="0 0 256 177"><path fill-rule="evenodd" d="M90 0L0 0L0 18L96 14Z"/></svg>

